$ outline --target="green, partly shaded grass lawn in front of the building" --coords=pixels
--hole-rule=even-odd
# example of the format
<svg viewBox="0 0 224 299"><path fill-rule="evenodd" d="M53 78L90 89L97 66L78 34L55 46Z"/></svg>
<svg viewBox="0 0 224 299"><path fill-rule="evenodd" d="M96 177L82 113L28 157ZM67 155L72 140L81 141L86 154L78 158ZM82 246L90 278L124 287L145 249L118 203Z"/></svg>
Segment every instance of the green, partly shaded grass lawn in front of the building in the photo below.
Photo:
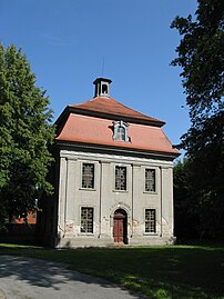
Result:
<svg viewBox="0 0 224 299"><path fill-rule="evenodd" d="M224 298L224 246L53 250L0 245L0 255L65 262L153 299Z"/></svg>

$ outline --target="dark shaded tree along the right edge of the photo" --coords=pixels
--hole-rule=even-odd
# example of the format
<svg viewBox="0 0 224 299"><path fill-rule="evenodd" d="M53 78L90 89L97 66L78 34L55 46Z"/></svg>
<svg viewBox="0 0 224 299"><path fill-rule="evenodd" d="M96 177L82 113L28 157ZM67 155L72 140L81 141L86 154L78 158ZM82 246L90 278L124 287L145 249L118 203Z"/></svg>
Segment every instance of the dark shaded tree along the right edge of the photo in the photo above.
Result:
<svg viewBox="0 0 224 299"><path fill-rule="evenodd" d="M198 0L196 19L176 17L182 36L173 66L181 77L191 128L180 147L191 160L192 188L201 236L221 237L224 228L224 6Z"/></svg>

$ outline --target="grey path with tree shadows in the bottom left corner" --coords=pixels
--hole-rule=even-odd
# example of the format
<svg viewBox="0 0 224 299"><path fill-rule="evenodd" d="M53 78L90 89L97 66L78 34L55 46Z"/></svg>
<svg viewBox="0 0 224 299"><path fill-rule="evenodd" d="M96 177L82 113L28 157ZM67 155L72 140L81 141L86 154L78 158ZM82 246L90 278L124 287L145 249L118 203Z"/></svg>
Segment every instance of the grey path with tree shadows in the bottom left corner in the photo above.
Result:
<svg viewBox="0 0 224 299"><path fill-rule="evenodd" d="M0 256L0 299L141 299L106 280L54 262Z"/></svg>

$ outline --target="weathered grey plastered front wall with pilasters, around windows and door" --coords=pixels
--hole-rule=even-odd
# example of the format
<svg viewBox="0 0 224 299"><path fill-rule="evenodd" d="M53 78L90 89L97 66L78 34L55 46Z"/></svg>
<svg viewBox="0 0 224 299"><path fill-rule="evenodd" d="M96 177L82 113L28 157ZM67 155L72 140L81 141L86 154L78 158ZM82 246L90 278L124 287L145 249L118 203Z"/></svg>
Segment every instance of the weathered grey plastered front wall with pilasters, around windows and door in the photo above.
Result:
<svg viewBox="0 0 224 299"><path fill-rule="evenodd" d="M173 237L172 161L75 150L62 150L60 159L59 246L113 243L113 215L119 208L128 215L130 245L167 243ZM83 162L95 166L93 190L81 187ZM115 166L126 167L126 191L114 190ZM155 192L144 191L145 168L155 169ZM94 208L94 231L91 235L80 231L81 207ZM146 208L156 210L156 233L144 232Z"/></svg>

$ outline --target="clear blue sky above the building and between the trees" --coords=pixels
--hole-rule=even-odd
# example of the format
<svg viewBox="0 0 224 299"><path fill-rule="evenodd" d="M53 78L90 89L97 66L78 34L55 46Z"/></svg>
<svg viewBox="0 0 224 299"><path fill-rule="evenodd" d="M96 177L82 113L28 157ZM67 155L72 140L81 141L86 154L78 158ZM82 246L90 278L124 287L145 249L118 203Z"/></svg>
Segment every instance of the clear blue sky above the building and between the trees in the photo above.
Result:
<svg viewBox="0 0 224 299"><path fill-rule="evenodd" d="M0 42L22 48L54 120L105 77L112 98L164 120L176 144L190 121L170 24L195 10L196 0L0 0Z"/></svg>

